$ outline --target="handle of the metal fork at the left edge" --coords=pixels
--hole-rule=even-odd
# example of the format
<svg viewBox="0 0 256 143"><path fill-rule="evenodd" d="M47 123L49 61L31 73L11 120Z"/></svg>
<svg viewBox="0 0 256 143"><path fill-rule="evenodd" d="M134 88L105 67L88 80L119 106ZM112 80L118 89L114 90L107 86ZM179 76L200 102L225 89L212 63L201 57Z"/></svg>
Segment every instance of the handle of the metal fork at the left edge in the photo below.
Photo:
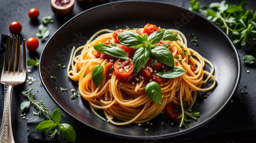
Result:
<svg viewBox="0 0 256 143"><path fill-rule="evenodd" d="M13 86L14 85L8 84L7 92L5 92L0 142L14 142L11 119L11 99Z"/></svg>

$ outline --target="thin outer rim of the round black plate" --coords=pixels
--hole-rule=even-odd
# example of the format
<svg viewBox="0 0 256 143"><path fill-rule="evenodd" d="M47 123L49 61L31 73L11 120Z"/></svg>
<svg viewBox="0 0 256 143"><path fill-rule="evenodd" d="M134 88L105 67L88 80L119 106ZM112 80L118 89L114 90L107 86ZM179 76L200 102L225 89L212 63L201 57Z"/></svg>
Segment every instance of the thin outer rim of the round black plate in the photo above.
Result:
<svg viewBox="0 0 256 143"><path fill-rule="evenodd" d="M64 24L62 24L58 30L49 38L49 40L47 41L47 43L45 44L45 47L44 49L42 50L41 54L40 54L40 59L42 58L42 55L44 54L44 51L46 50L46 47L49 43L49 41L52 39L52 37L58 32L61 30L61 28L63 26L65 26L67 23L71 22L73 19L75 19L76 17L78 17L79 15L83 14L83 13L86 13L88 11L91 11L93 9L96 9L96 8L100 8L100 7L104 7L104 6L108 6L108 5L112 5L112 4L118 4L118 3L156 3L156 4L164 4L164 5L169 5L169 6L173 6L173 7L177 7L179 9L183 9L185 11L189 11L183 7L180 7L180 6L177 6L177 5L174 5L174 4L169 4L167 2L160 2L160 1L136 1L136 0L123 0L123 1L115 1L115 2L110 2L110 3L105 3L105 4L101 4L101 5L98 5L98 6L94 6L92 8L89 8L87 10L84 10L78 14L76 14L75 16L73 16L71 19L69 19L67 22L65 22ZM190 12L193 12L193 11L190 11ZM234 53L236 54L235 58L237 60L237 64L238 64L238 76L237 76L237 79L236 79L236 84L234 85L233 87L233 90L231 92L231 94L229 95L227 101L218 109L217 112L215 112L213 115L211 115L207 120L205 121L202 121L201 123L197 124L196 126L193 126L193 127L190 127L188 129L184 129L182 131L179 131L179 132L174 132L174 133L170 133L170 134L162 134L162 135L151 135L151 136L133 136L133 135L126 135L126 134L118 134L118 133L113 133L113 132L108 132L108 131L105 131L105 130L102 130L102 129L99 129L99 128L96 128L96 127L93 127L89 124L86 124L84 122L82 122L81 120L79 120L78 118L76 118L75 116L73 116L70 112L68 112L64 107L62 107L55 99L54 97L52 96L52 94L50 93L50 91L47 89L46 87L46 84L44 82L44 79L42 77L42 74L41 74L41 60L39 62L39 77L40 77L40 80L41 80L41 83L44 87L44 89L46 90L47 94L50 96L50 98L54 101L54 103L61 108L62 111L66 112L69 116L71 116L72 118L74 118L75 120L79 121L81 124L84 124L86 126L89 126L90 128L93 128L97 131L101 131L102 133L104 134L107 134L107 135L112 135L112 136L117 136L117 137L122 137L122 138L129 138L131 139L131 137L133 137L134 139L146 139L146 138L170 138L170 137L175 137L175 136L180 136L180 135L183 135L185 133L188 133L190 131L193 131L193 130L196 130L202 126L204 126L205 124L209 123L210 121L212 121L213 119L215 119L217 117L217 115L222 111L222 109L226 106L227 102L230 100L230 98L236 93L237 89L238 89L238 86L239 86L239 83L240 83L240 80L241 80L241 60L240 60L240 56L239 56L239 52L238 52L238 49L233 45L233 43L231 42L231 40L229 39L229 37L220 29L220 27L218 27L217 25L215 25L214 23L210 22L207 18L205 18L204 16L196 13L196 12L193 12L195 15L199 16L200 18L203 18L204 20L207 20L208 21L208 24L211 24L213 25L217 30L218 32L220 32L222 35L224 35L224 37L227 39L227 42L230 44L230 48L233 49Z"/></svg>

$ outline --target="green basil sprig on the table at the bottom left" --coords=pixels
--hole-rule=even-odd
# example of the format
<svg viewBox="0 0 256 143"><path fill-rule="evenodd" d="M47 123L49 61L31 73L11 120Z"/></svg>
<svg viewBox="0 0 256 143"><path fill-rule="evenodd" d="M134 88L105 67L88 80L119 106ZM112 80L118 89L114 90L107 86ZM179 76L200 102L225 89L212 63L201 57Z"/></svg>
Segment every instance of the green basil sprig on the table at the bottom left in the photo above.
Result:
<svg viewBox="0 0 256 143"><path fill-rule="evenodd" d="M52 120L46 120L46 121L40 122L35 129L37 131L46 132L53 128L53 130L50 131L50 133L52 133L50 135L52 138L57 133L57 128L59 128L59 133L64 138L74 142L76 140L76 132L74 128L67 123L60 124L60 120L61 120L60 110L55 109L52 112Z"/></svg>

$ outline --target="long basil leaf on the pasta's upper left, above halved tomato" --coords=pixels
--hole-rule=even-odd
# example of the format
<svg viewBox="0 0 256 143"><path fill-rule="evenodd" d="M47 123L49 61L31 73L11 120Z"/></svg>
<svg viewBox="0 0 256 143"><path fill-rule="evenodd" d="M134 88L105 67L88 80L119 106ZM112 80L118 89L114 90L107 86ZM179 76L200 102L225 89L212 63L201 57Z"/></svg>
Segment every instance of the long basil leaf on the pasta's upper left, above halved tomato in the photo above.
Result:
<svg viewBox="0 0 256 143"><path fill-rule="evenodd" d="M117 59L123 59L123 60L129 60L126 52L122 50L121 48L105 45L105 44L96 44L93 46L93 48L99 52L108 54L110 56L113 56Z"/></svg>

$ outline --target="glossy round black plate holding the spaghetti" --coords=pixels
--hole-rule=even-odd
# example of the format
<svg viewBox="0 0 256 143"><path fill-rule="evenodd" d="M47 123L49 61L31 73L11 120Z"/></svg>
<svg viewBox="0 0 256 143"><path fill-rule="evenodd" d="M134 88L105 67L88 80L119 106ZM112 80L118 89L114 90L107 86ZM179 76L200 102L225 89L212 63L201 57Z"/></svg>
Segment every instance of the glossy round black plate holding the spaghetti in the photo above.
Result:
<svg viewBox="0 0 256 143"><path fill-rule="evenodd" d="M195 106L194 110L200 111L201 117L197 121L191 120L185 128L179 128L169 122L166 122L167 126L161 126L164 121L161 116L151 121L153 125L145 123L140 127L137 124L115 126L103 122L94 115L88 102L81 96L75 100L70 99L71 89L78 92L77 84L69 79L66 69L58 67L59 63L67 66L72 47L85 44L98 30L116 30L116 26L125 28L125 25L140 28L146 23L153 23L162 28L176 28L185 36L194 33L198 37L199 45L194 45L190 42L193 37L187 36L188 47L198 51L215 66L217 85L209 92L207 99L203 97L205 92L199 93L196 104L199 103L200 106ZM206 70L209 70L209 66L206 66ZM166 3L124 1L94 7L61 26L41 54L39 74L52 100L70 116L99 131L138 139L181 135L212 120L236 91L241 64L238 52L228 37L204 17ZM56 81L50 79L50 76L56 76ZM61 92L60 87L68 88L69 92ZM145 131L145 128L150 130Z"/></svg>

